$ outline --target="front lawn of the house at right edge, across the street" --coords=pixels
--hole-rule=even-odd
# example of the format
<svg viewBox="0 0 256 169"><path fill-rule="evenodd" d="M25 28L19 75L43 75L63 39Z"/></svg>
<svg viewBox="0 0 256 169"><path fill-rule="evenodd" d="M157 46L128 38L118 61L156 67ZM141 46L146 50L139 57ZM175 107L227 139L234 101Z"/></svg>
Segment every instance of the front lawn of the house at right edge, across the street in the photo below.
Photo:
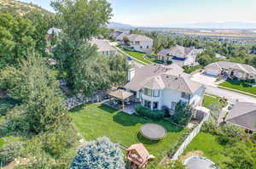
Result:
<svg viewBox="0 0 256 169"><path fill-rule="evenodd" d="M249 86L246 84L246 82L233 81L228 79L227 81L220 83L219 86L240 90L246 93L256 94L256 87Z"/></svg>

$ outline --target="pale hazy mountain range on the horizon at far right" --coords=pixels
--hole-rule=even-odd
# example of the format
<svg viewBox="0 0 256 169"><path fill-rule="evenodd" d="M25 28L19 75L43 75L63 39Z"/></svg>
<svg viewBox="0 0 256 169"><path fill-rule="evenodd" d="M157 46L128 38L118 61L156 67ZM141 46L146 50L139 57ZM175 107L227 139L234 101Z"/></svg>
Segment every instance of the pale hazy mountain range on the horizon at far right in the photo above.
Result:
<svg viewBox="0 0 256 169"><path fill-rule="evenodd" d="M180 27L187 28L210 28L210 29L254 29L256 23L247 22L202 22L195 24L184 24Z"/></svg>

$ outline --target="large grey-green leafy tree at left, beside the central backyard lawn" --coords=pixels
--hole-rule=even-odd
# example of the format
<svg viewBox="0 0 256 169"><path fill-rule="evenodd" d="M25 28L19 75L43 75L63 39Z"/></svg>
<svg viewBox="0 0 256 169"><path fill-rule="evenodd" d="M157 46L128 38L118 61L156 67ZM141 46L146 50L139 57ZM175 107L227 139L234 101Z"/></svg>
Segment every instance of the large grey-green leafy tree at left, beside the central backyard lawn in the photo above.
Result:
<svg viewBox="0 0 256 169"><path fill-rule="evenodd" d="M58 82L44 59L30 55L16 68L1 71L0 79L0 87L22 103L7 115L12 131L52 131L70 121Z"/></svg>

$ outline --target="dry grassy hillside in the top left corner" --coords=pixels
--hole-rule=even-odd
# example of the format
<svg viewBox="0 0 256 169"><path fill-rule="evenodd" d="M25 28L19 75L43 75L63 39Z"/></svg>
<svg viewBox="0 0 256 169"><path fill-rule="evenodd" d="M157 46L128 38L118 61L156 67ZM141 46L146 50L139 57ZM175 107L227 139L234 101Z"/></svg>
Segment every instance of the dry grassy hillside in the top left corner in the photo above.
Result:
<svg viewBox="0 0 256 169"><path fill-rule="evenodd" d="M44 8L40 8L32 3L23 3L15 0L0 0L0 11L1 13L12 13L12 14L26 14L32 10L39 10L44 14L49 14L49 11Z"/></svg>

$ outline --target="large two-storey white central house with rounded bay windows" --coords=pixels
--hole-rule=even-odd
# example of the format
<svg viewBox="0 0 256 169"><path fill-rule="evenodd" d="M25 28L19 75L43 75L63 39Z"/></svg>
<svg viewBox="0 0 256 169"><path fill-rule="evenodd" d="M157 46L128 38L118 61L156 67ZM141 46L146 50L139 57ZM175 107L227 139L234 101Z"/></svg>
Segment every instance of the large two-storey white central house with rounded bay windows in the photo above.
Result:
<svg viewBox="0 0 256 169"><path fill-rule="evenodd" d="M144 107L162 110L166 106L175 110L177 102L193 106L201 104L205 87L190 80L178 65L146 65L131 69L125 89L134 93Z"/></svg>

